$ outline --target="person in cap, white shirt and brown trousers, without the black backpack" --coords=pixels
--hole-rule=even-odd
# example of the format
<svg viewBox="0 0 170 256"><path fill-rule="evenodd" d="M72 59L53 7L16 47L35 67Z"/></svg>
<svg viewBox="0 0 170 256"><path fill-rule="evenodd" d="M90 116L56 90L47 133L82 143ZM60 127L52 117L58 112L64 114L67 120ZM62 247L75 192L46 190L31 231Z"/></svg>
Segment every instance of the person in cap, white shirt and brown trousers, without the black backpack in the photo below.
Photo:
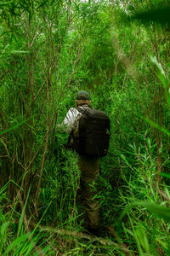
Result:
<svg viewBox="0 0 170 256"><path fill-rule="evenodd" d="M91 108L90 96L87 91L79 91L76 102L78 108L84 110ZM63 122L67 126L67 131L70 133L70 148L75 148L75 138L79 136L79 120L83 113L78 108L70 108ZM94 199L94 196L97 193L100 158L97 155L79 154L78 166L82 173L80 185L86 226L91 233L96 235L99 226L99 202Z"/></svg>

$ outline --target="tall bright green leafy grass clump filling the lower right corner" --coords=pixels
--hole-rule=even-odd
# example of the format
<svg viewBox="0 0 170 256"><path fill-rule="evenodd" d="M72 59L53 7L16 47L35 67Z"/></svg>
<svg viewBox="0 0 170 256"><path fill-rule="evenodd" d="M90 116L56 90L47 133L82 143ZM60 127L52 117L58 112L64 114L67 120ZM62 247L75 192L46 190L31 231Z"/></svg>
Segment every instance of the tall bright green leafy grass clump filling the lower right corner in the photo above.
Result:
<svg viewBox="0 0 170 256"><path fill-rule="evenodd" d="M122 154L125 184L119 189L119 199L125 210L118 232L131 252L139 255L168 255L170 250L170 188L162 178L157 181L155 148L150 138L144 137L142 145L129 147L131 162Z"/></svg>

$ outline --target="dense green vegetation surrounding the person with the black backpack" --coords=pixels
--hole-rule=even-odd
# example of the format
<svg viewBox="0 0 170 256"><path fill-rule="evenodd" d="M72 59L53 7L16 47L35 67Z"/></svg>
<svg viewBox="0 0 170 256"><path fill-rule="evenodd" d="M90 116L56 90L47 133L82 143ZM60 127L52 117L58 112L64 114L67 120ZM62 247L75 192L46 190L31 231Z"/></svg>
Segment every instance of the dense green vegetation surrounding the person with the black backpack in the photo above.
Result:
<svg viewBox="0 0 170 256"><path fill-rule="evenodd" d="M169 255L167 10L154 0L0 2L0 254ZM57 130L77 90L111 118L99 238L83 230L78 156Z"/></svg>

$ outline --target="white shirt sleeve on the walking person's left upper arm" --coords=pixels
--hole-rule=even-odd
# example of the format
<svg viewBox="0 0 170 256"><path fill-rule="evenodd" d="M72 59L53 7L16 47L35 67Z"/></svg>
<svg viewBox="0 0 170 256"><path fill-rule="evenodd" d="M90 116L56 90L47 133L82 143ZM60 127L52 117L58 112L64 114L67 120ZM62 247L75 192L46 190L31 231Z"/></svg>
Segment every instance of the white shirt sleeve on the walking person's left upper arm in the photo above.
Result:
<svg viewBox="0 0 170 256"><path fill-rule="evenodd" d="M70 108L66 113L66 117L63 121L63 125L66 126L66 131L71 133L71 131L75 128L77 120L81 117L82 113L80 113L76 108Z"/></svg>

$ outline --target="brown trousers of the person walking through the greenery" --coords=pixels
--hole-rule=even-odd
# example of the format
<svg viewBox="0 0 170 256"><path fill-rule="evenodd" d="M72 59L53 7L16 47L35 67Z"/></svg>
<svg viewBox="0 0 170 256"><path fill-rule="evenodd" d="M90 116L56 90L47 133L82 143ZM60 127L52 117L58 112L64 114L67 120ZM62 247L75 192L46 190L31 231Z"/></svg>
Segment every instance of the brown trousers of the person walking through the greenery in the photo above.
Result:
<svg viewBox="0 0 170 256"><path fill-rule="evenodd" d="M78 166L81 171L82 209L88 228L97 229L99 225L99 202L94 199L97 193L100 159L98 157L80 156Z"/></svg>

